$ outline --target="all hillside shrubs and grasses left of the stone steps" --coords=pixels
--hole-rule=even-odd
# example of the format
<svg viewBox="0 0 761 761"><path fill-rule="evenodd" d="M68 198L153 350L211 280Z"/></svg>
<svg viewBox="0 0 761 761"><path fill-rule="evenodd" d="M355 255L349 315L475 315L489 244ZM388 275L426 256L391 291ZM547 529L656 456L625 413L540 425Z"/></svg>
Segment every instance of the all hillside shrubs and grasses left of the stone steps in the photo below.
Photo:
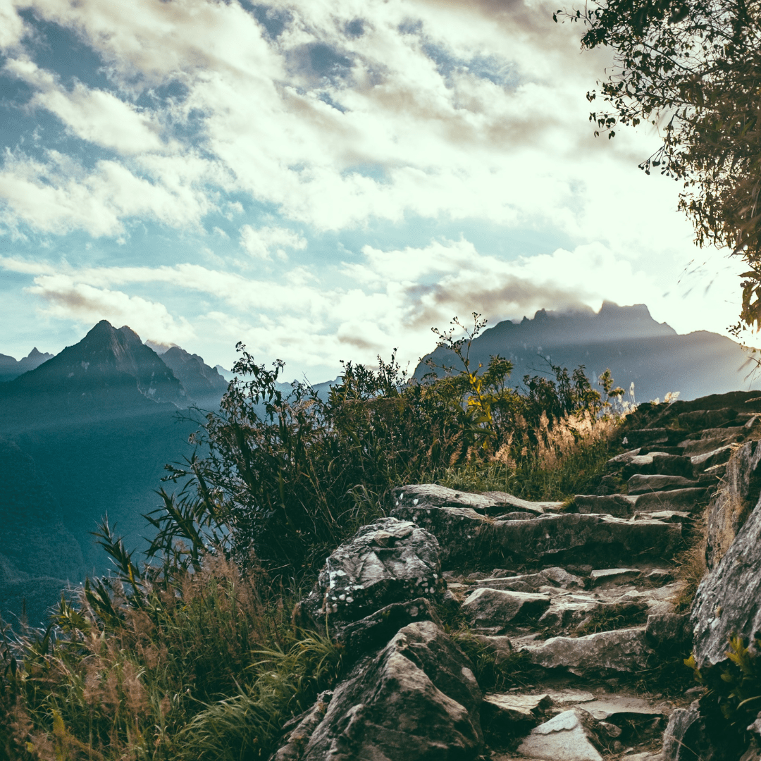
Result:
<svg viewBox="0 0 761 761"><path fill-rule="evenodd" d="M476 322L474 333L479 330ZM414 482L590 493L612 454L622 391L583 368L508 386L511 365L412 380L395 359L345 365L327 400L278 388L282 363L239 346L178 492L148 516L142 559L104 521L114 563L62 600L45 631L5 629L0 756L11 759L266 759L282 724L342 670L342 649L291 623L326 555ZM619 412L616 412L616 409Z"/></svg>

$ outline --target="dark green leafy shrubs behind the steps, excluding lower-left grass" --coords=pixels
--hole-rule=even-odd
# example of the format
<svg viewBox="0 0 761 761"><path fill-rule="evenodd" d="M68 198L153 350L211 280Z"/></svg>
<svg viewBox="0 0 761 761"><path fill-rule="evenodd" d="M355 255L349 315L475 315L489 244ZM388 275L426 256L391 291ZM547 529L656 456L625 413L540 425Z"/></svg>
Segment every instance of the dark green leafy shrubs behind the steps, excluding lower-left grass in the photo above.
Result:
<svg viewBox="0 0 761 761"><path fill-rule="evenodd" d="M471 368L470 345L484 324L474 315L463 339L437 332L463 365L459 371L441 368L443 377L418 381L395 355L388 363L379 358L376 369L349 362L326 400L299 383L284 393L282 362L272 370L257 365L239 344L237 380L196 437L207 456L170 466L167 479L183 489L162 495L164 508L151 516L161 543L168 521L168 530L183 527L180 538L193 552L222 545L244 564L253 553L269 572L316 572L345 537L384 514L395 486L456 477L469 467L479 472L489 463L522 475L538 463L545 473L555 469L587 443L586 429L612 410L619 390L608 384L603 398L583 367L568 374L551 366L554 379L527 376L518 392L508 387L511 364L503 358ZM221 527L213 535L212 523Z"/></svg>

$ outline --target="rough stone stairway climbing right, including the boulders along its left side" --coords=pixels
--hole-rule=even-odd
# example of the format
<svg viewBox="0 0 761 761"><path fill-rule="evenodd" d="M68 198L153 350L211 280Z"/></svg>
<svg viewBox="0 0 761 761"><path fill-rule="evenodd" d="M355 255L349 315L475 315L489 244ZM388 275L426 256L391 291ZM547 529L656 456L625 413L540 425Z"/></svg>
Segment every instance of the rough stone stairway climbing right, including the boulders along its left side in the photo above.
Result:
<svg viewBox="0 0 761 761"><path fill-rule="evenodd" d="M397 489L301 603L350 670L289 722L274 761L758 759L705 739L682 660L693 638L721 657L715 630L734 624L705 613L714 598L701 607L707 581L690 613L679 567L707 536L714 578L756 504L747 398L643 406L597 493L565 503Z"/></svg>

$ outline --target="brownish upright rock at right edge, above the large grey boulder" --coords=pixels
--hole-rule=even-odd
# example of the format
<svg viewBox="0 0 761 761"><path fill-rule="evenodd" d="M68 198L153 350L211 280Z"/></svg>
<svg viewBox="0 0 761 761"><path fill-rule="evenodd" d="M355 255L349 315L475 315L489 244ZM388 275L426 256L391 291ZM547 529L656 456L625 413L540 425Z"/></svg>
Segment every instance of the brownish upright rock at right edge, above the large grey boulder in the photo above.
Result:
<svg viewBox="0 0 761 761"><path fill-rule="evenodd" d="M705 562L715 568L761 492L761 446L748 441L727 463L724 484L708 505Z"/></svg>

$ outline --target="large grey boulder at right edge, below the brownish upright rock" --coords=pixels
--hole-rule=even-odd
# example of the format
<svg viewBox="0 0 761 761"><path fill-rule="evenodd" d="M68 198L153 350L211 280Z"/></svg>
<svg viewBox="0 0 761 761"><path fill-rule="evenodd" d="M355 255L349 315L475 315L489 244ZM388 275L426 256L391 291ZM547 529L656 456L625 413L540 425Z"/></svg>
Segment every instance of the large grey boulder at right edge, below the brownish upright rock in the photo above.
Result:
<svg viewBox="0 0 761 761"><path fill-rule="evenodd" d="M718 565L700 582L690 616L699 666L724 661L729 636L761 629L761 510L756 506Z"/></svg>

